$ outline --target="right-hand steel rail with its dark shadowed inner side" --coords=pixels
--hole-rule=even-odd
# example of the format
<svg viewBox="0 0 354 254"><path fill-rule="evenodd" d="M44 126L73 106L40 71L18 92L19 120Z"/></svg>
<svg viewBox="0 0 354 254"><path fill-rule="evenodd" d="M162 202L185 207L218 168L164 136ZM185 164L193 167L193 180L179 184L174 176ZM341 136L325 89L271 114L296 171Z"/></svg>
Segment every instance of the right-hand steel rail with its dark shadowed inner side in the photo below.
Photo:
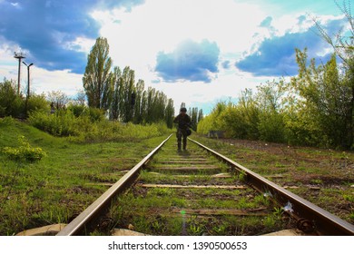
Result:
<svg viewBox="0 0 354 254"><path fill-rule="evenodd" d="M323 210L317 205L308 200L300 198L298 195L285 190L279 185L271 182L261 175L243 167L241 164L232 161L226 156L217 151L211 150L200 142L196 142L188 138L191 142L198 144L204 150L211 152L214 156L228 163L232 169L240 171L245 174L245 180L256 190L259 190L266 195L270 195L282 207L288 207L288 213L298 220L298 226L301 230L310 231L315 230L320 235L330 236L353 236L354 225L339 217Z"/></svg>

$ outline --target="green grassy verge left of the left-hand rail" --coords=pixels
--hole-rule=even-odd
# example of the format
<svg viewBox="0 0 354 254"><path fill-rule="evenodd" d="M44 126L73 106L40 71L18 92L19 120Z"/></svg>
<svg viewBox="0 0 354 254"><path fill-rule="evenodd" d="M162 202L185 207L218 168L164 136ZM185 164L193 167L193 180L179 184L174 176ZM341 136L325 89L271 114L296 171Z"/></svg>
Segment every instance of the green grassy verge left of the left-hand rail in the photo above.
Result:
<svg viewBox="0 0 354 254"><path fill-rule="evenodd" d="M19 136L47 156L37 162L13 161L0 151L0 235L74 219L107 188L93 183L119 180L167 134L74 143L24 122L0 119L0 150L18 146Z"/></svg>

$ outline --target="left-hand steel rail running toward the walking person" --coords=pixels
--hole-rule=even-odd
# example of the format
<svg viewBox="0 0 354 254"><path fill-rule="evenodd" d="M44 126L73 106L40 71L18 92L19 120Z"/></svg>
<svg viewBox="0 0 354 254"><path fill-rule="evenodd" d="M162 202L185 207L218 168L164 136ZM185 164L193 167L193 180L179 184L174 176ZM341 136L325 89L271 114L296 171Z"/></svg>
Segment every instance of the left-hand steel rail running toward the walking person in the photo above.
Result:
<svg viewBox="0 0 354 254"><path fill-rule="evenodd" d="M64 227L57 236L73 236L77 235L84 230L84 227L87 223L92 221L100 211L102 211L113 198L123 190L126 185L134 179L139 171L142 169L143 165L145 165L148 161L150 161L153 155L159 151L162 145L167 142L171 138L172 134L165 139L159 146L157 146L153 151L151 151L148 155L143 158L138 164L136 164L133 169L128 171L123 177L113 184L113 186L106 190L101 197L97 200L93 201L93 203L86 208L82 213L80 213L73 221L71 221L68 225Z"/></svg>

